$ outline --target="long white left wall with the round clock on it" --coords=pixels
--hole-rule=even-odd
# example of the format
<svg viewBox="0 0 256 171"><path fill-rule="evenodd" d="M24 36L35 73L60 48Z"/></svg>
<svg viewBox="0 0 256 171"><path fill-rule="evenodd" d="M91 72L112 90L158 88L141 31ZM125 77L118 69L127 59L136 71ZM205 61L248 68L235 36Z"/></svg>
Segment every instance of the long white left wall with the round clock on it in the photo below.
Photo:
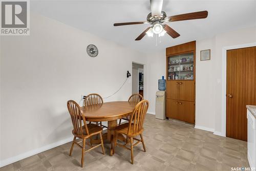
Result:
<svg viewBox="0 0 256 171"><path fill-rule="evenodd" d="M97 57L87 55L89 44L98 47ZM132 61L146 63L146 55L31 13L30 36L1 37L2 165L69 140L67 101L93 92L111 95ZM127 100L131 93L130 77L104 100Z"/></svg>

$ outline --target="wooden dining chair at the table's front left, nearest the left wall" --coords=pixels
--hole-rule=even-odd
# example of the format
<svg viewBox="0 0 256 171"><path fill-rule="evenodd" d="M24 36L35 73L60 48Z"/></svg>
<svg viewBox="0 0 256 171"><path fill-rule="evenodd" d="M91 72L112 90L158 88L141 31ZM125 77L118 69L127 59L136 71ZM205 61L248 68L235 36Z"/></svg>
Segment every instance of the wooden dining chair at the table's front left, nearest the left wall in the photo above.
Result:
<svg viewBox="0 0 256 171"><path fill-rule="evenodd" d="M96 124L86 123L86 118L82 114L82 111L80 109L80 106L74 101L69 100L68 103L68 110L70 113L70 117L73 123L73 131L72 134L74 135L74 139L72 142L72 146L70 148L69 155L72 155L74 144L78 145L82 148L82 158L81 158L81 167L83 167L83 157L85 152L89 152L92 149L98 147L101 145L102 153L104 153L104 146L103 146L103 140L102 140L102 127ZM92 146L92 144L86 142L86 139L91 138L93 135L99 135L100 136L100 142L101 144ZM76 138L82 139L82 141L77 142ZM79 143L82 142L82 145ZM86 144L90 146L89 149L86 149Z"/></svg>

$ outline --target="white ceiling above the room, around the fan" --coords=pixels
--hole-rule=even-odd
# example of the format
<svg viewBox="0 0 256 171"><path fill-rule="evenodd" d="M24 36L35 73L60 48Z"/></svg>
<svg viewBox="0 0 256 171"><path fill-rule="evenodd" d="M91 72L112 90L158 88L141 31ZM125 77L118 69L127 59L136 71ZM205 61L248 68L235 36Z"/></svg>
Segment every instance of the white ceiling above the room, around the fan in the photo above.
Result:
<svg viewBox="0 0 256 171"><path fill-rule="evenodd" d="M165 35L156 46L156 37L134 39L149 25L114 27L114 23L143 22L150 13L150 0L140 1L31 1L31 11L88 31L144 53L164 51L183 42L212 37L218 33L256 26L256 1L166 1L167 16L208 11L206 19L168 23L181 36Z"/></svg>

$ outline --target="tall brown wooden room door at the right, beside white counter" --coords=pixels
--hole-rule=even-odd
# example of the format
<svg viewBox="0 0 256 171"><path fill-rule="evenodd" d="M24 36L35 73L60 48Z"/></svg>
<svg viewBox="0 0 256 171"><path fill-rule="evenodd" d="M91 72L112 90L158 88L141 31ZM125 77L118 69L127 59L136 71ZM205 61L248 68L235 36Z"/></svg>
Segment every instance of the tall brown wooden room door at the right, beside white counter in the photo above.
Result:
<svg viewBox="0 0 256 171"><path fill-rule="evenodd" d="M227 51L226 136L247 141L246 105L256 105L256 47Z"/></svg>

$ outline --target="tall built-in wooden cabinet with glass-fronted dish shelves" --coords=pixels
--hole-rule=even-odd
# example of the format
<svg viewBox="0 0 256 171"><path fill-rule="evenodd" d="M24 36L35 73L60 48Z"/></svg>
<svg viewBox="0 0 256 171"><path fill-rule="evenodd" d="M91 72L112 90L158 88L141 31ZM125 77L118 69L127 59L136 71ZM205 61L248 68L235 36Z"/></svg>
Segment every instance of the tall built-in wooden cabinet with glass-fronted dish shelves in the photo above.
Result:
<svg viewBox="0 0 256 171"><path fill-rule="evenodd" d="M166 117L195 123L196 41L166 48Z"/></svg>

